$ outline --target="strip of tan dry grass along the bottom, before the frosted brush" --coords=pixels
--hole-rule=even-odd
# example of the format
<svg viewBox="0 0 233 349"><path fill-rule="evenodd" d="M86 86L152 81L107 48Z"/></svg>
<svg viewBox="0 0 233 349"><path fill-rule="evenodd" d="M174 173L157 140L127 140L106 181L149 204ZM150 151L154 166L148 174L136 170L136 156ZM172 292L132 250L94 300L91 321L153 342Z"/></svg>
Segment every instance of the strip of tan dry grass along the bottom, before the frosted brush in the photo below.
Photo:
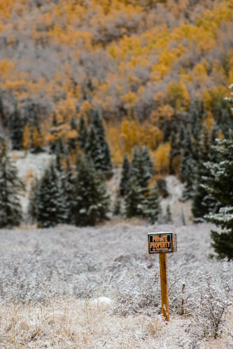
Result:
<svg viewBox="0 0 233 349"><path fill-rule="evenodd" d="M233 324L232 313L228 314ZM197 348L187 335L188 320L160 315L113 315L111 305L66 298L48 306L0 306L1 348ZM225 333L198 348L232 348Z"/></svg>

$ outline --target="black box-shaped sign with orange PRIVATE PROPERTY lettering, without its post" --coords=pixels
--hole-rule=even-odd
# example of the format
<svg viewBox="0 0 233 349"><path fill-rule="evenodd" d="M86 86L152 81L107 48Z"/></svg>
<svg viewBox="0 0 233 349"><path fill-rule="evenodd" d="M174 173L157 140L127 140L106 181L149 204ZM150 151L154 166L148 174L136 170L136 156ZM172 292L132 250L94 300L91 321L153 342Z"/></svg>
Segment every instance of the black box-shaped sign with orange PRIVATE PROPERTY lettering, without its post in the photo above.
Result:
<svg viewBox="0 0 233 349"><path fill-rule="evenodd" d="M172 232L149 232L148 252L169 253L177 251L176 234Z"/></svg>

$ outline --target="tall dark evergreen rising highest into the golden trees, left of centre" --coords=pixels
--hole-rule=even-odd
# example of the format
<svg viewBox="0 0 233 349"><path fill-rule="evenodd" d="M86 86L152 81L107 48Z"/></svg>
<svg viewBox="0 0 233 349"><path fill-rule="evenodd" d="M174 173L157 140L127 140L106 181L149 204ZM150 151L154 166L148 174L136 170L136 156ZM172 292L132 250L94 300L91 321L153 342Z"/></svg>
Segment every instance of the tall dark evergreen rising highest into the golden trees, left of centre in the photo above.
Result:
<svg viewBox="0 0 233 349"><path fill-rule="evenodd" d="M110 149L108 142L105 140L103 121L97 112L92 114L85 154L90 156L96 170L101 170L104 174L111 176L112 163Z"/></svg>

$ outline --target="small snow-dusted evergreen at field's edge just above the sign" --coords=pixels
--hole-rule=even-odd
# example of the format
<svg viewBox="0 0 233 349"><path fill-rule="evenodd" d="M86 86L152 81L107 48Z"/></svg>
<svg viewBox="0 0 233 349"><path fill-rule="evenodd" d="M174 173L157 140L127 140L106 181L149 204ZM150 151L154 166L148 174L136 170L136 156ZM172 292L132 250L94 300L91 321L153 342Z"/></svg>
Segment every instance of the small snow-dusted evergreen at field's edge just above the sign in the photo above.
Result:
<svg viewBox="0 0 233 349"><path fill-rule="evenodd" d="M157 221L161 214L160 195L156 183L145 200L143 214L152 224Z"/></svg>

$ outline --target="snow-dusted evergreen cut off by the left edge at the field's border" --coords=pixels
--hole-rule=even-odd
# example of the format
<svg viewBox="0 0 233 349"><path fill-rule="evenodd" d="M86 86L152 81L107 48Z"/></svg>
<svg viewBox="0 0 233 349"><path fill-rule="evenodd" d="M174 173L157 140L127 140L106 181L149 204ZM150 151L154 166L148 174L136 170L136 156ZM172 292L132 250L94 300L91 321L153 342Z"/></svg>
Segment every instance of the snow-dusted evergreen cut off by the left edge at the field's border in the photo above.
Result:
<svg viewBox="0 0 233 349"><path fill-rule="evenodd" d="M17 177L17 168L8 157L6 141L0 138L0 228L19 225L22 209L18 193L22 191L22 181Z"/></svg>

